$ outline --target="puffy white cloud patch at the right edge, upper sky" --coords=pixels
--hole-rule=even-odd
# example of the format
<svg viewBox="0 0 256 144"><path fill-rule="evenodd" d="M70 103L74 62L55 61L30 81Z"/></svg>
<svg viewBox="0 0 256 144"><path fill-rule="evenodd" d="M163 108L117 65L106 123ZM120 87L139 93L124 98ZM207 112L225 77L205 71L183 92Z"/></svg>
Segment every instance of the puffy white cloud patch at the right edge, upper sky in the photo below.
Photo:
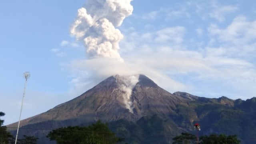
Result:
<svg viewBox="0 0 256 144"><path fill-rule="evenodd" d="M237 16L226 28L211 24L208 28L212 44L221 44L226 56L247 57L256 52L256 20L247 21L244 16Z"/></svg>

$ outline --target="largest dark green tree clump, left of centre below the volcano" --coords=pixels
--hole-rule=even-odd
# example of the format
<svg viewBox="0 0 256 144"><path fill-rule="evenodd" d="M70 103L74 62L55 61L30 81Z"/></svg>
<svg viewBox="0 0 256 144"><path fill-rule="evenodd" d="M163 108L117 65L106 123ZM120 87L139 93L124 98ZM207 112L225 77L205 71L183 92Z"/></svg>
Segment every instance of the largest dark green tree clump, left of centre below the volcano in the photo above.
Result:
<svg viewBox="0 0 256 144"><path fill-rule="evenodd" d="M108 125L100 121L88 127L57 128L46 137L56 140L57 144L116 144L124 140L116 137Z"/></svg>

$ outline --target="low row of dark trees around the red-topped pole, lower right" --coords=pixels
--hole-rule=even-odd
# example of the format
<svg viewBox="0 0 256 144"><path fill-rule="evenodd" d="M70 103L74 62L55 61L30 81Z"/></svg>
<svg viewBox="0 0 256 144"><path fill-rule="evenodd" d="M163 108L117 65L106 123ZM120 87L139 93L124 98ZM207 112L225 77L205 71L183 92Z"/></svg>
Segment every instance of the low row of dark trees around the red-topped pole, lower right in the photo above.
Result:
<svg viewBox="0 0 256 144"><path fill-rule="evenodd" d="M182 133L172 139L172 144L240 144L236 135L226 136L225 134L211 134L209 136L197 137L190 133Z"/></svg>

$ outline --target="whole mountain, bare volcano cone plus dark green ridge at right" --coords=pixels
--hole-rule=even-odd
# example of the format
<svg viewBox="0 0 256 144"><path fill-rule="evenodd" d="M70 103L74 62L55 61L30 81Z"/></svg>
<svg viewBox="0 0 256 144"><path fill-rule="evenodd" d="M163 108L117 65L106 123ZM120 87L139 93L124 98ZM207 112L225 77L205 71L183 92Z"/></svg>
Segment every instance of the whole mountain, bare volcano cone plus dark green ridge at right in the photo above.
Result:
<svg viewBox="0 0 256 144"><path fill-rule="evenodd" d="M42 144L50 143L45 136L52 129L102 120L129 144L171 144L181 132L196 134L193 125L197 122L200 135L236 134L242 144L254 144L255 117L256 98L244 101L171 94L144 75L116 75L73 100L22 120L19 133L34 135Z"/></svg>

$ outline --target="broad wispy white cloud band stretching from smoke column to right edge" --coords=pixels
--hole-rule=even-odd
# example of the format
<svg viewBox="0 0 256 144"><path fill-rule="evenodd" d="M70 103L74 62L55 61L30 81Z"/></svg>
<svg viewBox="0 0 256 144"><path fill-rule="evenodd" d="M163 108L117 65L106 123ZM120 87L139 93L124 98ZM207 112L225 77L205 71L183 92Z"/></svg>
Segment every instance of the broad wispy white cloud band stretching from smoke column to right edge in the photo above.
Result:
<svg viewBox="0 0 256 144"><path fill-rule="evenodd" d="M253 25L252 22L250 24L251 26L247 25L248 29L250 29ZM232 25L233 23L230 24L230 26ZM165 28L158 30L157 32L162 34L161 32L164 33L164 31L166 31ZM246 33L246 30L244 32ZM244 89L248 89L251 93L256 93L252 88L252 86L255 85L256 79L254 74L254 71L256 70L255 64L240 57L234 58L235 54L238 55L235 53L237 49L242 48L243 51L247 49L252 52L252 50L255 49L255 42L253 43L253 46L245 44L241 47L241 45L234 44L232 46L226 45L226 41L222 41L224 43L222 44L218 42L216 45L217 47L206 47L192 51L186 49L175 49L173 46L168 44L168 40L162 40L160 45L156 43L157 41L154 41L153 44L145 45L145 43L148 43L148 41L144 38L151 40L155 33L156 32L146 32L144 34L133 33L132 36L126 35L126 39L124 40L128 40L127 37L129 37L129 43L133 43L135 45L134 48L130 48L130 50L134 50L134 53L126 56L124 60L132 57L132 63L140 63L142 66L151 68L150 70L152 72L162 72L163 75L167 74L166 76L171 78L175 78L176 76L182 74L185 74L184 76L190 76L193 74L195 75L194 78L197 79L197 81L200 80L203 82L210 82L211 80L214 80L215 82L228 82L229 85L231 85L229 89L241 88L240 82L243 82L244 86L242 87ZM218 33L218 36L225 34L227 33L221 32ZM172 37L175 36L179 37L178 34L173 34ZM247 36L243 35L240 38L243 39L244 37ZM251 38L249 39L252 40ZM183 41L178 42L180 42L179 46L184 45ZM125 44L122 43L122 48L126 49ZM216 43L216 41L213 41L213 43ZM234 55L230 55L230 53L233 53ZM248 53L244 56L248 56ZM242 73L246 73L246 75L241 76ZM156 78L156 81L158 81L158 78ZM248 87L248 85L251 86ZM165 86L163 87L165 88ZM171 88L168 88L168 90L171 90ZM247 98L250 97L251 95Z"/></svg>

